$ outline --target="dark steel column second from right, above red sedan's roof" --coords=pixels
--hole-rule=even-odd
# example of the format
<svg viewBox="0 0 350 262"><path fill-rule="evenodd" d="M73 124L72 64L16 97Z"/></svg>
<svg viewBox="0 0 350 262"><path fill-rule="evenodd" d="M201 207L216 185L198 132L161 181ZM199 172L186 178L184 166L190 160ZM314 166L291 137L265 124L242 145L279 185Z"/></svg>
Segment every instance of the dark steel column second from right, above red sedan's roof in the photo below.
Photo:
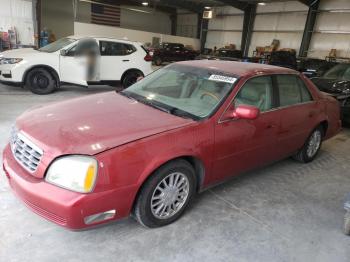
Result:
<svg viewBox="0 0 350 262"><path fill-rule="evenodd" d="M250 41L252 39L254 21L256 16L256 4L249 4L244 9L243 31L241 40L241 50L243 56L248 56Z"/></svg>

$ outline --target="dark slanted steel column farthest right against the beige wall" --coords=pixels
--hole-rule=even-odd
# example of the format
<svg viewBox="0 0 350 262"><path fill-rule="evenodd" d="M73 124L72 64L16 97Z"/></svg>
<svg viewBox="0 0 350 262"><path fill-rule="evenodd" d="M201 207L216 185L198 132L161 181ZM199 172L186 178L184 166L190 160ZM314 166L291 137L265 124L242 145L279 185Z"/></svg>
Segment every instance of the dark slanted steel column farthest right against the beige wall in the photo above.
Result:
<svg viewBox="0 0 350 262"><path fill-rule="evenodd" d="M317 18L317 12L318 7L320 5L320 0L315 0L310 6L309 6L309 12L307 14L306 23L304 27L304 33L303 33L303 39L301 41L300 49L299 49L299 56L300 57L307 57L310 42L312 38L312 33L314 31L314 26Z"/></svg>

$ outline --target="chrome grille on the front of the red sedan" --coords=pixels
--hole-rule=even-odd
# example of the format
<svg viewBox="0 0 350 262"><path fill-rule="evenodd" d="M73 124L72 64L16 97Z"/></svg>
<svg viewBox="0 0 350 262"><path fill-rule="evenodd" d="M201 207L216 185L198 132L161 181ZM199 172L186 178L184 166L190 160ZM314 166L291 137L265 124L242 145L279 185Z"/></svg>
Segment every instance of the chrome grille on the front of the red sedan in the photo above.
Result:
<svg viewBox="0 0 350 262"><path fill-rule="evenodd" d="M33 173L38 168L43 151L33 144L23 134L16 130L11 134L11 149L17 162L26 170Z"/></svg>

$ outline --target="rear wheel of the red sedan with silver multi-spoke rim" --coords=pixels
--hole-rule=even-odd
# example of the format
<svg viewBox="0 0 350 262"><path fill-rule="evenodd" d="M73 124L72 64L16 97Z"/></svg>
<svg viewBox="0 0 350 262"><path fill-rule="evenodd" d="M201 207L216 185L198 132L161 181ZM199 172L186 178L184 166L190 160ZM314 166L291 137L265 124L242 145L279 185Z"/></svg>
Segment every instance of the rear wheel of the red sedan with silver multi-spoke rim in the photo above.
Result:
<svg viewBox="0 0 350 262"><path fill-rule="evenodd" d="M322 145L323 128L317 127L306 140L304 146L293 156L302 163L309 163L315 159Z"/></svg>

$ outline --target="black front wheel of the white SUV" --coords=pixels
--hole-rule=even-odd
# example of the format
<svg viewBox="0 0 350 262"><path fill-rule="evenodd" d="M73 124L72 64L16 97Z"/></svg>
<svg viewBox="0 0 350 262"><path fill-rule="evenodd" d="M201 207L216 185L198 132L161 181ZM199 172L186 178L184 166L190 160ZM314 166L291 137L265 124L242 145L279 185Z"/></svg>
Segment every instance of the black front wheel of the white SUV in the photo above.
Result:
<svg viewBox="0 0 350 262"><path fill-rule="evenodd" d="M47 95L55 91L56 79L44 68L31 70L25 80L25 87L37 95Z"/></svg>

